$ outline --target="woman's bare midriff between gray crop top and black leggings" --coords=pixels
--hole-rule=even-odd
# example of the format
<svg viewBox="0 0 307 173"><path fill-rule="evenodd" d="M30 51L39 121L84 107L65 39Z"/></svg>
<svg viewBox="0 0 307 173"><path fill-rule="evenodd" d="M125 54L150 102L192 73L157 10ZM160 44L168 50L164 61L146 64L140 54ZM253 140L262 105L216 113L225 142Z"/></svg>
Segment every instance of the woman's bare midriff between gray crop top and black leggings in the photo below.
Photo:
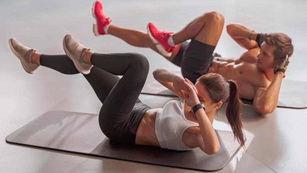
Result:
<svg viewBox="0 0 307 173"><path fill-rule="evenodd" d="M155 132L155 121L157 116L157 110L149 109L146 111L142 118L138 130L136 132L135 144L138 145L152 145L160 147L159 141Z"/></svg>

